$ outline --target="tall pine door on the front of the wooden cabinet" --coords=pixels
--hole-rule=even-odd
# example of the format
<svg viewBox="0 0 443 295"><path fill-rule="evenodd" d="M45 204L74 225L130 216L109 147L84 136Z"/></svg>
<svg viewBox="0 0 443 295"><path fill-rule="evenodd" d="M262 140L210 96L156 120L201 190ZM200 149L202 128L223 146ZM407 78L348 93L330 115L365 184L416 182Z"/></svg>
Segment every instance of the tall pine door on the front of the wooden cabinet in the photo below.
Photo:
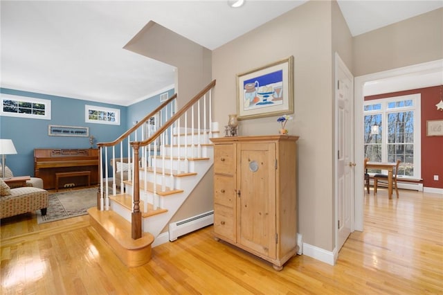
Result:
<svg viewBox="0 0 443 295"><path fill-rule="evenodd" d="M237 242L275 258L275 143L240 143L237 151Z"/></svg>

